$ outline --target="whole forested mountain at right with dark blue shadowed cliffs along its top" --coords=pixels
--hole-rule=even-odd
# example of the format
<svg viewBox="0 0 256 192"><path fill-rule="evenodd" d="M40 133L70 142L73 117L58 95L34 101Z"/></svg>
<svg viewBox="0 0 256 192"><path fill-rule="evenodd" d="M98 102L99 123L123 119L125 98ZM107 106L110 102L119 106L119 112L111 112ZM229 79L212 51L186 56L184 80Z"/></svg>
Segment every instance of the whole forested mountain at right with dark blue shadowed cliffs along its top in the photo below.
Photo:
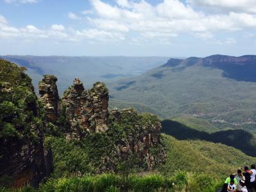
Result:
<svg viewBox="0 0 256 192"><path fill-rule="evenodd" d="M220 128L254 132L255 74L256 56L214 55L170 59L145 74L108 86L115 100L112 107L122 107L122 102L138 103L162 118L197 116Z"/></svg>

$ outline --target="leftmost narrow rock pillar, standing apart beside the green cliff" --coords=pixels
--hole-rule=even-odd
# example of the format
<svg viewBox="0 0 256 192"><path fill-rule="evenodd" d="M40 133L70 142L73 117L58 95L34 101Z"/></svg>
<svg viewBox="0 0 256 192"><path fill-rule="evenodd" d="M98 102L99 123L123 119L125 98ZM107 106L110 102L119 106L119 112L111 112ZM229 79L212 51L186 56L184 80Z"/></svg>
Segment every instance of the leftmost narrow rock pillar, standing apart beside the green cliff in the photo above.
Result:
<svg viewBox="0 0 256 192"><path fill-rule="evenodd" d="M44 104L45 113L49 122L55 123L58 118L59 94L56 85L57 78L45 75L39 83L39 93Z"/></svg>

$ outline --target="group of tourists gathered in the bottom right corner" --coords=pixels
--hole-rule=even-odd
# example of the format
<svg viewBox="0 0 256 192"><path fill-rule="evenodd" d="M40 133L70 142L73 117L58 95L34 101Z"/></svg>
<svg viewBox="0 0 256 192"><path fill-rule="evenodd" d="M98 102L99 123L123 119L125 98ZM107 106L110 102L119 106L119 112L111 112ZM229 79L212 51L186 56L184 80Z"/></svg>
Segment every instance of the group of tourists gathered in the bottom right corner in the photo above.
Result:
<svg viewBox="0 0 256 192"><path fill-rule="evenodd" d="M230 175L223 184L221 192L256 192L256 170L255 164L251 165L251 169L248 166L244 166L242 170L237 170L237 173Z"/></svg>

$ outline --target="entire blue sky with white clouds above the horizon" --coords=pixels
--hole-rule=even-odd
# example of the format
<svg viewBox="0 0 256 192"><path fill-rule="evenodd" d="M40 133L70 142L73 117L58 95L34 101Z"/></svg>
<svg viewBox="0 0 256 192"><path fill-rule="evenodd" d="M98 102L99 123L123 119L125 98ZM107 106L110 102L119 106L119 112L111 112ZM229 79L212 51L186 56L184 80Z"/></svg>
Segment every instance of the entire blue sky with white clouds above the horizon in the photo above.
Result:
<svg viewBox="0 0 256 192"><path fill-rule="evenodd" d="M0 0L0 54L256 54L256 0Z"/></svg>

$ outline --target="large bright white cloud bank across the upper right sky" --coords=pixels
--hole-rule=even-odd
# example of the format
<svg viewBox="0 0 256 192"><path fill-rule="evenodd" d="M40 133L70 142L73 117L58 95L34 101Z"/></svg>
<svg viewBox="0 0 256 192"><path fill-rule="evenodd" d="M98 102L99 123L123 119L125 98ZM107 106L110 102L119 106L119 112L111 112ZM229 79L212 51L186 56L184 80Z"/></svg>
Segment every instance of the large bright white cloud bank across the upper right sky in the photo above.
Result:
<svg viewBox="0 0 256 192"><path fill-rule="evenodd" d="M179 0L163 0L162 3L153 6L145 0L137 3L116 0L116 5L101 0L91 0L95 15L88 20L98 29L123 33L135 32L143 38L158 41L171 40L180 33L192 34L206 40L214 38L216 33L232 33L246 28L256 28L256 15L252 13L207 14L195 10L191 5L196 2L192 1L196 0L189 1L190 4L184 4ZM220 1L223 6L225 6L224 1ZM237 6L241 1L249 0L241 0L240 3L238 0L226 0L226 5L231 1L231 5Z"/></svg>

